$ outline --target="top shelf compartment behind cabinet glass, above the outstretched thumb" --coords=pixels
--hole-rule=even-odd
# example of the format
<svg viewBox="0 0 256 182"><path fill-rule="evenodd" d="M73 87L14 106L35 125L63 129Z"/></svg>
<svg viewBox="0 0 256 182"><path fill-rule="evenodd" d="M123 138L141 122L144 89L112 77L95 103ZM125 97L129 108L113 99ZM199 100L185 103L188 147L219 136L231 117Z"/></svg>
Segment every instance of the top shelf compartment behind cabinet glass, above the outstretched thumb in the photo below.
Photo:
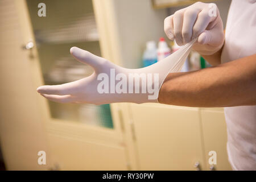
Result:
<svg viewBox="0 0 256 182"><path fill-rule="evenodd" d="M39 2L27 0L37 44L99 40L92 1L46 0L46 17L37 15Z"/></svg>

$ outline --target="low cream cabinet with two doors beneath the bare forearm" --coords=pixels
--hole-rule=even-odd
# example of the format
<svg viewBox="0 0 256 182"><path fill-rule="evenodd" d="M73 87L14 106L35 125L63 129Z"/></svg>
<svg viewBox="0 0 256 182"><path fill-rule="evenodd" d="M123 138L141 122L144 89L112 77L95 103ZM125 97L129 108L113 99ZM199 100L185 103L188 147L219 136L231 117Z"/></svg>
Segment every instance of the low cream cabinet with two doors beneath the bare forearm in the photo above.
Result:
<svg viewBox="0 0 256 182"><path fill-rule="evenodd" d="M223 109L129 104L127 113L139 169L232 169ZM209 164L210 151L216 152L217 164Z"/></svg>

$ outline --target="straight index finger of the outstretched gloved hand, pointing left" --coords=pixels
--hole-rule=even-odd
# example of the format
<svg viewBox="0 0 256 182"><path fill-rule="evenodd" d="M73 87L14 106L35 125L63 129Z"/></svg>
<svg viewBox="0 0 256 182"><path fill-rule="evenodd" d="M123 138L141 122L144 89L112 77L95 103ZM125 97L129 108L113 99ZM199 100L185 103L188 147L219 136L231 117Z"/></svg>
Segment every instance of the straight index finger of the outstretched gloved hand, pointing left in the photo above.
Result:
<svg viewBox="0 0 256 182"><path fill-rule="evenodd" d="M68 95L68 94L74 94L77 92L77 88L79 87L79 83L77 81L69 82L67 84L61 84L61 85L43 85L39 86L38 93L42 94L55 94L55 95Z"/></svg>

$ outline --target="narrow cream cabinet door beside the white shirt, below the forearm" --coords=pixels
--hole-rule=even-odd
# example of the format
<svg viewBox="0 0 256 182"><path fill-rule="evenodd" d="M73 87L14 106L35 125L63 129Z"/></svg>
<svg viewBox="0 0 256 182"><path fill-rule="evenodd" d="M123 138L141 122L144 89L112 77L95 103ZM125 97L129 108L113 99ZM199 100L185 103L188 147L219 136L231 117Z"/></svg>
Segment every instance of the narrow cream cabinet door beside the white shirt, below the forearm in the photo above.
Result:
<svg viewBox="0 0 256 182"><path fill-rule="evenodd" d="M232 170L228 162L228 154L226 151L227 135L223 109L201 109L201 122L205 160L207 162L207 168L205 168L205 170L209 170L211 165L213 165L216 170ZM209 154L210 151L216 152L216 165L209 164L209 158L215 155L213 153ZM210 163L212 162L213 159L211 159Z"/></svg>

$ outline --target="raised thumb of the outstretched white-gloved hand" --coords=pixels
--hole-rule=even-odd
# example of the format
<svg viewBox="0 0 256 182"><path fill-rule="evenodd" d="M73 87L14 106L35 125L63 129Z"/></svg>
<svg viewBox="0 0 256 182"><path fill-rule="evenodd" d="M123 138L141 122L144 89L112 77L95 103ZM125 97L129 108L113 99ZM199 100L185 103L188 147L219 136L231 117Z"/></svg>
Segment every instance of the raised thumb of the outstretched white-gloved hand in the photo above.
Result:
<svg viewBox="0 0 256 182"><path fill-rule="evenodd" d="M100 64L105 62L104 58L93 55L92 53L78 47L72 47L70 52L77 60L81 61L82 63L89 64L94 69L97 69L100 67Z"/></svg>

